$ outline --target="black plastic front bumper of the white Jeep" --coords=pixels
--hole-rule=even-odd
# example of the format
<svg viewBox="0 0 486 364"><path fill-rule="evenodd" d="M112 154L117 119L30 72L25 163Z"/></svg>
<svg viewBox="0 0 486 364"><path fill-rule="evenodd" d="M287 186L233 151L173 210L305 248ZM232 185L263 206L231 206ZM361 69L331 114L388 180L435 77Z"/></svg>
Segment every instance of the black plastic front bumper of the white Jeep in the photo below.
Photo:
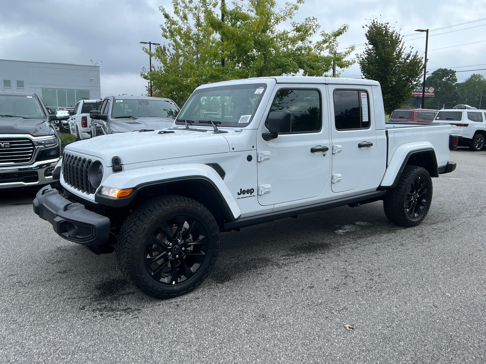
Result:
<svg viewBox="0 0 486 364"><path fill-rule="evenodd" d="M41 188L32 204L35 214L49 221L54 231L66 240L83 245L108 241L108 217L86 210L81 203L72 203L51 186Z"/></svg>

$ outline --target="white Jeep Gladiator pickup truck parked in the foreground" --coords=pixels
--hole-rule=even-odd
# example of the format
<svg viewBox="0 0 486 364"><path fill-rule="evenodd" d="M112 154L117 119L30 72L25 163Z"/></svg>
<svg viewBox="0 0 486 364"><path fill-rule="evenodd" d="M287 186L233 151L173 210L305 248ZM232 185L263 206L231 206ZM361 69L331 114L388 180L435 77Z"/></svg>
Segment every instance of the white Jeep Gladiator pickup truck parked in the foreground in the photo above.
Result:
<svg viewBox="0 0 486 364"><path fill-rule="evenodd" d="M449 124L385 125L375 81L269 77L198 87L172 128L69 144L34 212L95 253L116 250L148 295L190 292L219 233L383 200L393 223L427 215L455 169ZM113 248L114 246L114 248Z"/></svg>

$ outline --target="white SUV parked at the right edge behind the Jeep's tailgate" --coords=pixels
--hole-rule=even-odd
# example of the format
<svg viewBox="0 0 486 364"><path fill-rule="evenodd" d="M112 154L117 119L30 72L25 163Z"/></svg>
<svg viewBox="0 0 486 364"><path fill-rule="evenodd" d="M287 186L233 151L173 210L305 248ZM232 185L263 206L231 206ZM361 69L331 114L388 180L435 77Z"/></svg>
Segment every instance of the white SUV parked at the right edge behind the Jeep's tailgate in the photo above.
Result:
<svg viewBox="0 0 486 364"><path fill-rule="evenodd" d="M451 124L452 132L459 136L459 146L478 151L485 147L485 120L486 110L449 109L440 110L434 122Z"/></svg>

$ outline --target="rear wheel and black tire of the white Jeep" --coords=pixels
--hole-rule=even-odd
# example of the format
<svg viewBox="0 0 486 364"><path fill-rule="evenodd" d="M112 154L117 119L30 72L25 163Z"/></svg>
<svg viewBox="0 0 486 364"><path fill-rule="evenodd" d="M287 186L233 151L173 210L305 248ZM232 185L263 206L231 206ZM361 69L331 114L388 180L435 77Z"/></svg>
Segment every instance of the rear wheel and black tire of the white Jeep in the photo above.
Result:
<svg viewBox="0 0 486 364"><path fill-rule="evenodd" d="M432 202L432 178L427 169L406 165L395 188L383 199L385 215L392 223L412 227L427 215Z"/></svg>

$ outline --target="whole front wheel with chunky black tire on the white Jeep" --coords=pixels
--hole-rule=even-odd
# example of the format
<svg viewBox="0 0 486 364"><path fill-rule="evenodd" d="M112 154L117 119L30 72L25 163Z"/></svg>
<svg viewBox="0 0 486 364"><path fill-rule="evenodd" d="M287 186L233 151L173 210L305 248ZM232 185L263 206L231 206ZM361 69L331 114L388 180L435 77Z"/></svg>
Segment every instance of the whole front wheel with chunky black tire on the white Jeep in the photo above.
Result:
<svg viewBox="0 0 486 364"><path fill-rule="evenodd" d="M183 223L174 225L174 221ZM171 229L180 231L173 236ZM158 197L141 204L128 216L115 250L122 274L140 291L156 298L176 297L191 292L208 277L218 256L219 228L214 216L201 203L181 196ZM178 259L174 259L176 254ZM163 257L154 260L156 256ZM189 266L190 259L204 261ZM154 272L162 265L167 269L170 266L174 273L157 276Z"/></svg>

